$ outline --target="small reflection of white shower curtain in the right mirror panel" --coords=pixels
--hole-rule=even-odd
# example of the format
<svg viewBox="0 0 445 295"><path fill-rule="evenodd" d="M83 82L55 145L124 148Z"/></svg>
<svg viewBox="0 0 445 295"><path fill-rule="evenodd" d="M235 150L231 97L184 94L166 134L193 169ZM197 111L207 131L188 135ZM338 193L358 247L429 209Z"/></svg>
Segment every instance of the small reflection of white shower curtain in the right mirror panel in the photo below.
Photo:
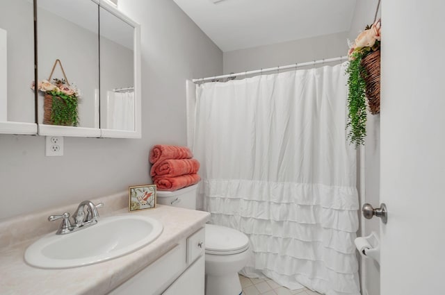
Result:
<svg viewBox="0 0 445 295"><path fill-rule="evenodd" d="M134 92L107 92L106 128L134 130Z"/></svg>

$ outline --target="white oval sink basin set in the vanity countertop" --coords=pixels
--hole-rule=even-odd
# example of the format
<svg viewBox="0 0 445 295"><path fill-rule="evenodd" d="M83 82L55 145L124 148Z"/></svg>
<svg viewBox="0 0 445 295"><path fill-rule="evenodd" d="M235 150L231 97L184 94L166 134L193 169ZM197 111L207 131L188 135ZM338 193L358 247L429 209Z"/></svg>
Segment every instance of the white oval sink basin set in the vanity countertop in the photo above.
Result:
<svg viewBox="0 0 445 295"><path fill-rule="evenodd" d="M106 217L74 233L45 235L26 249L24 258L44 269L82 267L136 251L153 242L162 230L162 224L149 217Z"/></svg>

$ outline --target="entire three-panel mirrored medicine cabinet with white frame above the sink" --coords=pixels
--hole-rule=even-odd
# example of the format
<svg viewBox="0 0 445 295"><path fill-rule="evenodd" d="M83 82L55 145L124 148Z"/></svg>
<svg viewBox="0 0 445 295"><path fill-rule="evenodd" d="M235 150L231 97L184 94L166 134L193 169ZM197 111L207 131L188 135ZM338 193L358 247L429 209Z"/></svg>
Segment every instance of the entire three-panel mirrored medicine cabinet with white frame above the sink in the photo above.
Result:
<svg viewBox="0 0 445 295"><path fill-rule="evenodd" d="M140 138L138 24L98 0L0 6L0 133ZM75 98L75 124L56 120L64 94Z"/></svg>

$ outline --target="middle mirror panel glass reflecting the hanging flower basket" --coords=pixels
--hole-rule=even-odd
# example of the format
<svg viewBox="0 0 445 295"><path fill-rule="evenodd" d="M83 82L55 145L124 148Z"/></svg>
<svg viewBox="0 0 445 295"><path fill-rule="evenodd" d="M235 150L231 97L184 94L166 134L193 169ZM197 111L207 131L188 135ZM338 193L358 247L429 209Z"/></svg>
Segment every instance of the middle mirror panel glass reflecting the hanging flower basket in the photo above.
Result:
<svg viewBox="0 0 445 295"><path fill-rule="evenodd" d="M38 0L38 78L60 89L39 91L39 124L99 128L98 9L91 0ZM77 110L78 124L60 119L60 108Z"/></svg>

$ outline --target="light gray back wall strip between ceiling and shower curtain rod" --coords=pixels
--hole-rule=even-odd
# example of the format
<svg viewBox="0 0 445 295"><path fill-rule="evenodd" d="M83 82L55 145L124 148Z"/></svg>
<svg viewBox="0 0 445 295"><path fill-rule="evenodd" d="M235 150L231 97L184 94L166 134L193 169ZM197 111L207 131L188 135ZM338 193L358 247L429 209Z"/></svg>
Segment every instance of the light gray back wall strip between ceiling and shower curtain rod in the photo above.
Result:
<svg viewBox="0 0 445 295"><path fill-rule="evenodd" d="M348 32L224 53L224 73L265 69L296 62L337 58L348 53Z"/></svg>

